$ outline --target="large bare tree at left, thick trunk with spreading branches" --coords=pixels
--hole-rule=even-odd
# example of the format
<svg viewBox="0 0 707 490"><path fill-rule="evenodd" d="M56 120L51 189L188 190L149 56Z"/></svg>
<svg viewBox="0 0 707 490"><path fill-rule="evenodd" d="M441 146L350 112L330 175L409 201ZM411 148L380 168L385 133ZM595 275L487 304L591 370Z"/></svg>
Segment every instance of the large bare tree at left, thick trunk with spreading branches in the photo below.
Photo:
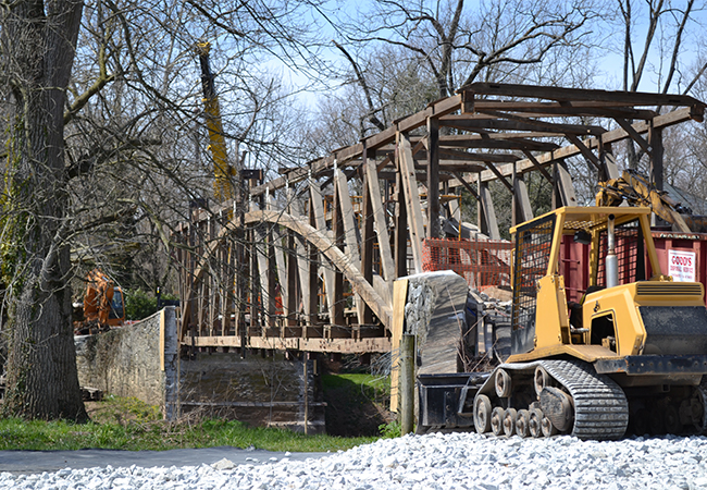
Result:
<svg viewBox="0 0 707 490"><path fill-rule="evenodd" d="M285 156L296 158L282 140L296 118L287 117L277 76L262 68L272 57L306 63L308 44L298 38L293 5L0 4L9 149L0 195L5 414L86 418L70 281L80 277L82 264L136 283L164 281L154 254L170 245L170 226L188 218L189 201L211 196L213 164L206 138L197 136L207 134L198 39L219 39L218 76L230 88L221 96L233 102L223 113L232 156L240 145L273 169ZM121 271L125 261L129 270Z"/></svg>

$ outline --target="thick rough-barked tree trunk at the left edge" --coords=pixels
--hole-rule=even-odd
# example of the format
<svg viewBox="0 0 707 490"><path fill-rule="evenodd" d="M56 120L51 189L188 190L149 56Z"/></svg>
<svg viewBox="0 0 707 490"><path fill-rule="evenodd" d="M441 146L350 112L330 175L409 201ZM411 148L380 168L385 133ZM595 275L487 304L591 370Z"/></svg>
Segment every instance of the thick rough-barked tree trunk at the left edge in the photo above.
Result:
<svg viewBox="0 0 707 490"><path fill-rule="evenodd" d="M4 415L86 420L71 322L65 90L83 2L23 1L0 13L12 93L3 279L10 285Z"/></svg>

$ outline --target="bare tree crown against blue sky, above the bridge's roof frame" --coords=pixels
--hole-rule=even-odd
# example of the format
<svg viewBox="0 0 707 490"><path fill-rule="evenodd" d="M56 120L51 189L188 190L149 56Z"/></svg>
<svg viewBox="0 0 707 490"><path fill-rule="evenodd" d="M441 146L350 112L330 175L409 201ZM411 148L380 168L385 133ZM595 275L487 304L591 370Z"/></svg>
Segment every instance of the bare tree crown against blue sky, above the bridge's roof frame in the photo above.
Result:
<svg viewBox="0 0 707 490"><path fill-rule="evenodd" d="M581 0L489 1L476 11L463 0L377 0L360 15L368 22L357 19L344 30L349 44L404 48L435 79L438 97L447 97L480 77L505 77L539 63L554 49L580 42L596 12L593 2Z"/></svg>

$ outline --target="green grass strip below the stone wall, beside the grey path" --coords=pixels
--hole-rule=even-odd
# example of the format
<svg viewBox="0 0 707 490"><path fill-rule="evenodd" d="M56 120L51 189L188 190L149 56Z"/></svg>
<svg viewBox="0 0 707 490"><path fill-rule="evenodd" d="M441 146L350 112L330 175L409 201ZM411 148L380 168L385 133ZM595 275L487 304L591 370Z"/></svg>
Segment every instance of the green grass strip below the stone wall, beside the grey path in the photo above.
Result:
<svg viewBox="0 0 707 490"><path fill-rule="evenodd" d="M377 438L305 436L289 430L250 427L239 421L204 419L168 422L156 407L135 399L109 396L91 404L91 421L0 419L0 450L117 449L164 451L185 448L263 449L269 451L325 452L347 450Z"/></svg>

